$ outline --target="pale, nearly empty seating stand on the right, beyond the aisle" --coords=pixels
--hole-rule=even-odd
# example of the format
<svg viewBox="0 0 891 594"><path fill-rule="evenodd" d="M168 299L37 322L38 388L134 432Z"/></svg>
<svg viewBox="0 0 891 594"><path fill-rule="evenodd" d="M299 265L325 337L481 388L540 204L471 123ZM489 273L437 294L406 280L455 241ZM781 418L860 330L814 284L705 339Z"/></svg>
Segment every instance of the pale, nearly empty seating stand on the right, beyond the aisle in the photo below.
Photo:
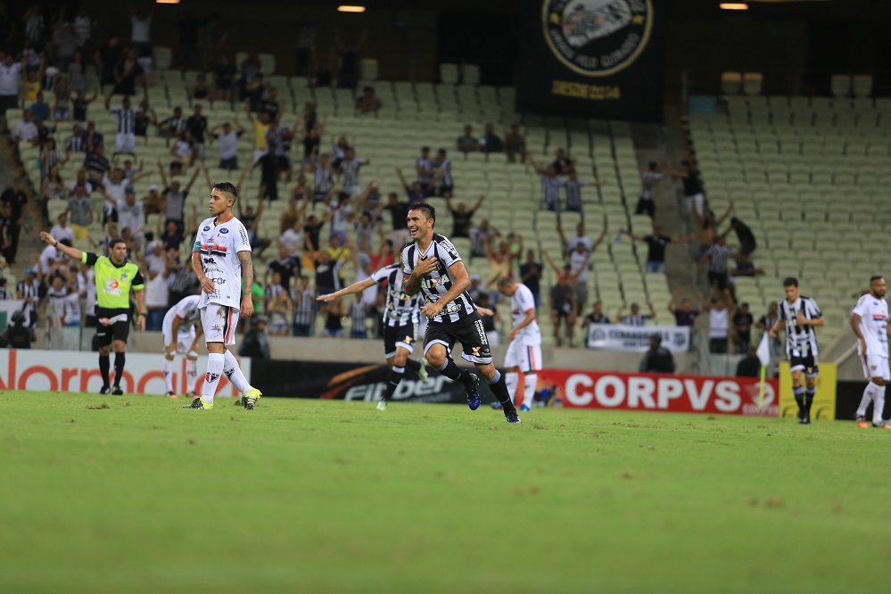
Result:
<svg viewBox="0 0 891 594"><path fill-rule="evenodd" d="M891 225L880 203L889 130L891 103L880 98L729 96L726 113L689 115L712 208L732 200L758 239L754 260L767 274L738 279L741 301L766 310L780 279L798 276L828 318L847 318L851 287L888 263L871 246ZM828 343L842 331L821 334Z"/></svg>

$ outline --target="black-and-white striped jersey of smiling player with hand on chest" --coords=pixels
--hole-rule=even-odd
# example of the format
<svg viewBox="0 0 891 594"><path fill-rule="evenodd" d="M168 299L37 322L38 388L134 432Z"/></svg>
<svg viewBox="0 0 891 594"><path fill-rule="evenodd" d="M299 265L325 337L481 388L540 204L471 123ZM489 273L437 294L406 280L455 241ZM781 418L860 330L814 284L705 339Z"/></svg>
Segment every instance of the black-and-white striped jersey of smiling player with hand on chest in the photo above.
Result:
<svg viewBox="0 0 891 594"><path fill-rule="evenodd" d="M425 252L421 252L417 243L411 243L402 251L402 272L406 276L410 275L411 271L417 266L417 262L426 258L439 260L439 267L421 279L421 288L417 294L422 295L425 302L432 303L439 301L443 295L449 292L451 285L455 281L451 277L449 268L462 260L461 256L458 255L458 250L455 249L455 246L451 244L445 235L434 233L433 241L427 246ZM475 313L476 306L474 305L474 300L465 291L459 294L455 301L446 303L439 315L431 318L431 321L450 324L460 322Z"/></svg>

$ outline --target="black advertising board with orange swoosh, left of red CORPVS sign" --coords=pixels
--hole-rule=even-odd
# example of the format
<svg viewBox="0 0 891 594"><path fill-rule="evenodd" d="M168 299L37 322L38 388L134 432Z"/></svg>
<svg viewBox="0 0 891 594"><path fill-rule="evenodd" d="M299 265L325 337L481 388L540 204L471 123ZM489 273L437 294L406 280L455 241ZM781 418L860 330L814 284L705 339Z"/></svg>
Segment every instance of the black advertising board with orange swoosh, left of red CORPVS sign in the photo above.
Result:
<svg viewBox="0 0 891 594"><path fill-rule="evenodd" d="M402 402L467 402L464 386L427 367L426 382L406 369L393 401ZM319 361L251 360L251 382L265 396L286 396L334 400L376 401L384 397L386 365L360 363L326 363ZM483 403L495 400L489 385L480 385Z"/></svg>

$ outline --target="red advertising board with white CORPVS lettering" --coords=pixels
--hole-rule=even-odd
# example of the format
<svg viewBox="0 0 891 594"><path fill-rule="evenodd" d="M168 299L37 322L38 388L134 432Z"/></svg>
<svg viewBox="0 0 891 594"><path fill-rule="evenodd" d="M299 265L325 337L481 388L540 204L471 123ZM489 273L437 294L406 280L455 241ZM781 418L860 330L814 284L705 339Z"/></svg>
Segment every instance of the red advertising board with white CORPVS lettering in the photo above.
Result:
<svg viewBox="0 0 891 594"><path fill-rule="evenodd" d="M540 382L556 387L568 408L658 410L722 415L778 416L777 381L764 385L758 408L755 377L627 374L565 369L540 372Z"/></svg>

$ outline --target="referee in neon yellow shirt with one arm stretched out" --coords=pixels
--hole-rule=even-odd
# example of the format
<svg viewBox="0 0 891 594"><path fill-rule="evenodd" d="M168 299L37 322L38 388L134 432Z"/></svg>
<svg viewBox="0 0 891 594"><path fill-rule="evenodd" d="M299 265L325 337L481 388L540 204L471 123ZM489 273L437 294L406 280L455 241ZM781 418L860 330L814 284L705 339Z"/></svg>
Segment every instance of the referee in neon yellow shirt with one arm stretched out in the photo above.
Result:
<svg viewBox="0 0 891 594"><path fill-rule="evenodd" d="M100 394L120 396L120 378L124 375L124 352L130 334L130 289L136 294L139 329L145 330L145 281L139 267L127 260L127 243L120 237L109 242L109 256L81 252L59 243L53 235L40 232L40 239L57 250L95 270L96 337L99 339L99 371L102 373ZM109 385L109 355L114 345L114 385Z"/></svg>

